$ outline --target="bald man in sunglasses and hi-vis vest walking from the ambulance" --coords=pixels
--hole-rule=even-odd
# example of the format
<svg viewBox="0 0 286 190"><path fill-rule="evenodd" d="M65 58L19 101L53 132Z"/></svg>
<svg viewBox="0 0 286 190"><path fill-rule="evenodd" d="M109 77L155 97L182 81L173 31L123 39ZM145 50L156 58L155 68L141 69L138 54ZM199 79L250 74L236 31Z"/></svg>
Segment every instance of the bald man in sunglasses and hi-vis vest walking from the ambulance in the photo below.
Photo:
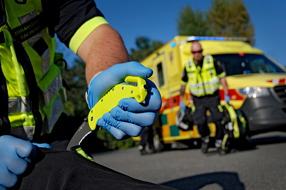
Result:
<svg viewBox="0 0 286 190"><path fill-rule="evenodd" d="M228 95L225 72L222 71L220 62L214 61L211 55L203 56L202 52L201 44L198 41L193 41L191 47L193 59L188 59L182 75L180 107L186 109L184 94L186 85L189 83L192 95L191 102L195 105L194 118L202 140L202 152L206 153L209 147L210 132L206 120L206 111L209 109L216 126L215 147L219 153L223 153L221 149L223 139L221 118L223 117L223 113L217 107L220 104L218 94L220 84L223 87L226 103L230 101L230 96Z"/></svg>

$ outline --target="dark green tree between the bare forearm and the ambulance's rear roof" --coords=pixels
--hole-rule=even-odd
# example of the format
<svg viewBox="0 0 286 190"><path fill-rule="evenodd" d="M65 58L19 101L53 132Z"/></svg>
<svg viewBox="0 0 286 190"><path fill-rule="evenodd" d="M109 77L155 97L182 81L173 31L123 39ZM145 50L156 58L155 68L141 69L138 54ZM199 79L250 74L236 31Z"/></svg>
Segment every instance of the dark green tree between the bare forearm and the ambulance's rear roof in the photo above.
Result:
<svg viewBox="0 0 286 190"><path fill-rule="evenodd" d="M135 43L137 49L131 49L130 60L138 62L143 60L145 57L163 45L163 42L161 41L152 40L151 42L148 37L144 36L137 37Z"/></svg>

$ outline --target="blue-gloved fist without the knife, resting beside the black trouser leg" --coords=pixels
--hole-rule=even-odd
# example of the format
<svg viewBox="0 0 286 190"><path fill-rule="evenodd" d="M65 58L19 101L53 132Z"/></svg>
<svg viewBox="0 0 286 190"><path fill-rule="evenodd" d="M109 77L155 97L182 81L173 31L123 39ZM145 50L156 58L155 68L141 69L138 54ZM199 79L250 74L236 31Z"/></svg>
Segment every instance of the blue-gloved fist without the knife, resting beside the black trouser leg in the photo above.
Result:
<svg viewBox="0 0 286 190"><path fill-rule="evenodd" d="M47 144L43 146L48 147ZM0 189L14 186L18 180L17 175L24 173L36 155L37 151L32 143L12 136L1 136Z"/></svg>

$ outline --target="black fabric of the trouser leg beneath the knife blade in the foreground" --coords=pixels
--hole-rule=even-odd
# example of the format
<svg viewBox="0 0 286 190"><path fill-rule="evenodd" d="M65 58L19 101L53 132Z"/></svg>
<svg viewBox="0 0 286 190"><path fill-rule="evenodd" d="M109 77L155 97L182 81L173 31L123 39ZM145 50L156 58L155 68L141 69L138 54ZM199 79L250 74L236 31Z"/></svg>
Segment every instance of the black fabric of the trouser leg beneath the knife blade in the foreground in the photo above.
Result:
<svg viewBox="0 0 286 190"><path fill-rule="evenodd" d="M173 189L134 179L65 150L37 148L39 158L11 189ZM96 159L95 159L96 160Z"/></svg>

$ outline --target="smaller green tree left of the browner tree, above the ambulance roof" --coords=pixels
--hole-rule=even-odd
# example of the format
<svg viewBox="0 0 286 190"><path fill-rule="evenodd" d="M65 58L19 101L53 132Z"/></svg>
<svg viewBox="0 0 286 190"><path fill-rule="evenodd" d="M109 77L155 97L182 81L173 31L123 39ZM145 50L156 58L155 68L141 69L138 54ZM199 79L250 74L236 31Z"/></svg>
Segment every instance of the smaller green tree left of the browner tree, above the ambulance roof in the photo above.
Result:
<svg viewBox="0 0 286 190"><path fill-rule="evenodd" d="M177 21L177 30L179 35L192 35L192 36L211 36L211 31L206 24L203 13L200 10L186 5L179 12Z"/></svg>

